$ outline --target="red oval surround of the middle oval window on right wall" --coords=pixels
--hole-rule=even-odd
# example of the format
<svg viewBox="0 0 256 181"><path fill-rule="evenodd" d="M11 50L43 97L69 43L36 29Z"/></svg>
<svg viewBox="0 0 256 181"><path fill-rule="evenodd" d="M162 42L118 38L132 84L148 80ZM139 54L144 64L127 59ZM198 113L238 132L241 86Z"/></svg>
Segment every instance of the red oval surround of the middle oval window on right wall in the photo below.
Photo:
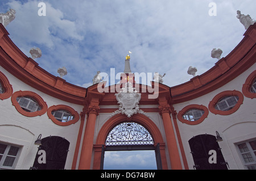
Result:
<svg viewBox="0 0 256 181"><path fill-rule="evenodd" d="M216 110L215 106L218 103L218 101L222 98L225 98L225 96L238 96L239 100L236 104L236 106L234 106L231 110L228 111L220 111L220 110ZM238 108L240 108L241 104L243 103L243 94L240 91L224 91L221 92L220 94L217 94L216 96L214 96L214 98L212 99L212 101L210 101L209 103L209 110L210 112L214 113L214 114L218 114L218 115L230 115L234 112L236 112L238 110Z"/></svg>

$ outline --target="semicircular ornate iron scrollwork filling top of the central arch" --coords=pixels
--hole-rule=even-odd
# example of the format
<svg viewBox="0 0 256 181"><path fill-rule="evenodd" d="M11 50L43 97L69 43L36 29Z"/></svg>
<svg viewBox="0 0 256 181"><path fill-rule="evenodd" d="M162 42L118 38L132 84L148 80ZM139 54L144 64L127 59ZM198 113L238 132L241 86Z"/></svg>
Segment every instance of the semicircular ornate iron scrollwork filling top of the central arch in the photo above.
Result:
<svg viewBox="0 0 256 181"><path fill-rule="evenodd" d="M134 122L118 124L110 131L106 146L154 145L151 134L142 125Z"/></svg>

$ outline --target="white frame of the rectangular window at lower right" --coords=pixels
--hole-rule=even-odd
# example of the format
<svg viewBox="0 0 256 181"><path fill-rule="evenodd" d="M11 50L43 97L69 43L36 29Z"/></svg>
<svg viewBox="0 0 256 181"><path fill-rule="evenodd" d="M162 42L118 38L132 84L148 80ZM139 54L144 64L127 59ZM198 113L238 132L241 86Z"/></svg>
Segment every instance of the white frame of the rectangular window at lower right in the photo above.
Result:
<svg viewBox="0 0 256 181"><path fill-rule="evenodd" d="M256 139L252 139L252 140L246 140L246 141L242 141L242 142L238 142L236 143L236 148L237 148L237 153L239 154L240 158L241 158L241 161L243 163L243 166L245 167L245 169L249 170L248 169L248 166L255 166L256 167L256 155L254 152L256 152L256 150L253 150L253 148L251 148L251 145L250 145L250 142L251 141L256 141ZM241 145L241 144L246 144L247 148L249 151L247 151L247 153L250 153L251 154L251 157L254 159L253 162L249 162L249 163L246 163L245 162L245 159L243 159L243 156L242 156L242 153L240 151L240 148L238 147L238 145ZM244 154L244 153L243 153Z"/></svg>

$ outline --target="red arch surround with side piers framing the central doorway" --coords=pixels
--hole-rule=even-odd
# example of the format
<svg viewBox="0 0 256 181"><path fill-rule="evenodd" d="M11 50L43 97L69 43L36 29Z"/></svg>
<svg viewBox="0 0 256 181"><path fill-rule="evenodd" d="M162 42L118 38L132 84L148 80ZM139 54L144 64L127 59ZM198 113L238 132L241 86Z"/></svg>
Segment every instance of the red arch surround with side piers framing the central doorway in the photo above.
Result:
<svg viewBox="0 0 256 181"><path fill-rule="evenodd" d="M98 133L96 144L94 145L94 162L93 162L93 169L100 169L101 165L101 153L102 153L102 146L105 146L105 140L108 136L109 132L112 131L112 129L124 121L133 121L135 123L141 124L144 128L150 132L153 140L154 145L159 145L160 149L160 156L161 156L161 162L162 162L162 168L168 169L167 161L166 161L166 151L165 151L165 143L163 141L163 137L161 132L159 131L158 127L155 125L155 123L150 120L147 116L144 116L142 114L136 114L133 115L131 118L128 118L125 115L118 114L113 117L111 117L106 123L102 126L100 129L100 132Z"/></svg>

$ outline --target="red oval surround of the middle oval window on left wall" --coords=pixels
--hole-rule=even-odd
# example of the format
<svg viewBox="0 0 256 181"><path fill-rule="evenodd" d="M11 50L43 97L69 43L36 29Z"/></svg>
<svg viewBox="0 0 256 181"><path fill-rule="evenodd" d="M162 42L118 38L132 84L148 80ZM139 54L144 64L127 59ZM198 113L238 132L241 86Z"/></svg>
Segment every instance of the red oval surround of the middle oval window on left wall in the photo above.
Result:
<svg viewBox="0 0 256 181"><path fill-rule="evenodd" d="M35 99L36 102L41 107L41 110L40 111L36 111L36 112L24 111L19 106L19 103L16 101L16 98L24 97L24 96ZM41 96L36 94L35 92L31 92L31 91L17 91L17 92L14 92L13 96L11 96L11 102L13 103L13 106L15 106L16 110L19 113L21 113L22 115L27 116L27 117L42 116L47 111L47 104L46 104L46 102L44 102L43 98L41 98Z"/></svg>

